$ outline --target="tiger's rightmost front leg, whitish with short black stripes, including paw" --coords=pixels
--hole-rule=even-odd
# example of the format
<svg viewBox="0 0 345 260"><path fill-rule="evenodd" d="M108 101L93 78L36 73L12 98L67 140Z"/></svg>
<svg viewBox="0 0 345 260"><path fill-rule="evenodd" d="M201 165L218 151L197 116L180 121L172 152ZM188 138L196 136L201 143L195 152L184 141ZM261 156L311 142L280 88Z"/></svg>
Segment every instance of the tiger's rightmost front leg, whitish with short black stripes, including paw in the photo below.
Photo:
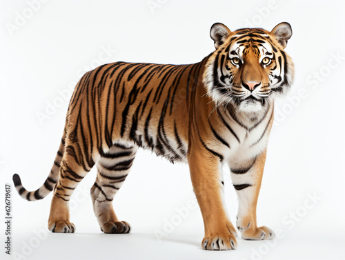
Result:
<svg viewBox="0 0 345 260"><path fill-rule="evenodd" d="M257 198L262 183L266 150L242 165L230 166L231 179L239 199L237 228L246 240L273 239L275 233L266 226L257 227Z"/></svg>

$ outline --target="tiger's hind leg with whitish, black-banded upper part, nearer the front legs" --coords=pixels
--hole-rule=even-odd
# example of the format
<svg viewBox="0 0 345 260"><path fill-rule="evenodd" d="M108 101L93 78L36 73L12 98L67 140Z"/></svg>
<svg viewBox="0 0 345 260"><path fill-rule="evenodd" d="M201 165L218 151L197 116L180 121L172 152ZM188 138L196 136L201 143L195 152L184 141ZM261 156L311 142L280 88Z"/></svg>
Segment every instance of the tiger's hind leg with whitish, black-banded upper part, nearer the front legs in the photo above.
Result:
<svg viewBox="0 0 345 260"><path fill-rule="evenodd" d="M104 233L128 233L130 225L119 221L112 207L112 199L124 183L137 146L126 147L115 144L97 162L97 178L91 188L93 210Z"/></svg>

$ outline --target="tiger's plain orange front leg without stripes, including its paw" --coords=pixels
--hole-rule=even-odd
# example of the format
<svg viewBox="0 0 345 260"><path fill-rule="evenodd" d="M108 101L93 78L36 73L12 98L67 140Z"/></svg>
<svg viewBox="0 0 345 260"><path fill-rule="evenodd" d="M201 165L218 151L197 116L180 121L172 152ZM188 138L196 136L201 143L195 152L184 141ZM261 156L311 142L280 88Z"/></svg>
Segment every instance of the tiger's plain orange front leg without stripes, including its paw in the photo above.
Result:
<svg viewBox="0 0 345 260"><path fill-rule="evenodd" d="M237 248L237 232L227 217L223 205L219 157L201 146L192 146L188 152L190 177L201 214L205 237L201 246L205 250L231 250Z"/></svg>

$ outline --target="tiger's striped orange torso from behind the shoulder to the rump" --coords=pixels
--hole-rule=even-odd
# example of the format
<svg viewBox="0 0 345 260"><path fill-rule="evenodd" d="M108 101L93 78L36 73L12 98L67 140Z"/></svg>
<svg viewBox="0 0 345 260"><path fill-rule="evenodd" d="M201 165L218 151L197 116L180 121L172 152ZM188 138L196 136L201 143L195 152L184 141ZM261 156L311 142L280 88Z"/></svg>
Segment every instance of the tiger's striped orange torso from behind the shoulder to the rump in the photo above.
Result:
<svg viewBox="0 0 345 260"><path fill-rule="evenodd" d="M87 136L98 137L92 145L99 155L122 143L148 148L170 161L186 161L188 104L202 79L201 68L202 62L106 64L79 81L68 120L80 122ZM69 138L78 136L77 126L69 126Z"/></svg>

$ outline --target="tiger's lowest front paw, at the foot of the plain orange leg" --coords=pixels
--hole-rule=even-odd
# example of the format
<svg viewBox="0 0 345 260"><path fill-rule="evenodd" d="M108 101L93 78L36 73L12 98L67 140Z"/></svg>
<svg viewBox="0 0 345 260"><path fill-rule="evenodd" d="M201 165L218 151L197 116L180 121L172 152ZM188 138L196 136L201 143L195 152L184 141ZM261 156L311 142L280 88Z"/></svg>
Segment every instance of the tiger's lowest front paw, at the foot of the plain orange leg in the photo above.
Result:
<svg viewBox="0 0 345 260"><path fill-rule="evenodd" d="M233 234L215 234L204 237L201 243L204 250L233 250L237 248L237 241Z"/></svg>

